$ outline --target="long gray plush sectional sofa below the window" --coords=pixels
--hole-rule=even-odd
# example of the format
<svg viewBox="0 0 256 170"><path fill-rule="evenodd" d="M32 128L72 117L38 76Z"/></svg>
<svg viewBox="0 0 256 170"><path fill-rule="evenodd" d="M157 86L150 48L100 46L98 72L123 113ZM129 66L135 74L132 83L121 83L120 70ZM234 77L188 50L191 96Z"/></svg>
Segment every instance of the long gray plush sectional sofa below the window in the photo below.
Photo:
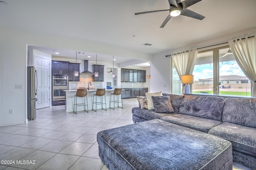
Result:
<svg viewBox="0 0 256 170"><path fill-rule="evenodd" d="M161 119L226 139L232 143L233 162L256 169L256 98L168 96L173 113L134 107L134 123Z"/></svg>

